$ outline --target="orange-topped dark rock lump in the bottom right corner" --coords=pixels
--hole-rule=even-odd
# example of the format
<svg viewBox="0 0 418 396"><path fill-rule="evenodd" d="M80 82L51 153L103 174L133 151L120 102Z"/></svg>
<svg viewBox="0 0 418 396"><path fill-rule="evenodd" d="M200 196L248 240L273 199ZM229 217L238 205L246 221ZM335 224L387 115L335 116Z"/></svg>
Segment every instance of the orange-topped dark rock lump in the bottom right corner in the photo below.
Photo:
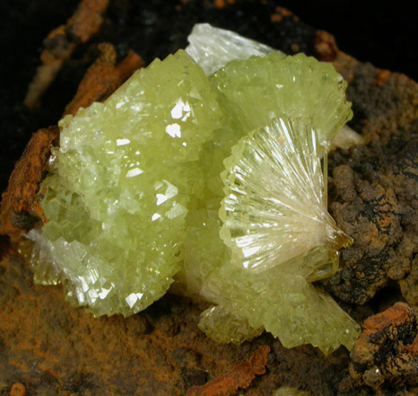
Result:
<svg viewBox="0 0 418 396"><path fill-rule="evenodd" d="M403 303L370 316L352 350L350 372L372 388L418 384L418 313Z"/></svg>

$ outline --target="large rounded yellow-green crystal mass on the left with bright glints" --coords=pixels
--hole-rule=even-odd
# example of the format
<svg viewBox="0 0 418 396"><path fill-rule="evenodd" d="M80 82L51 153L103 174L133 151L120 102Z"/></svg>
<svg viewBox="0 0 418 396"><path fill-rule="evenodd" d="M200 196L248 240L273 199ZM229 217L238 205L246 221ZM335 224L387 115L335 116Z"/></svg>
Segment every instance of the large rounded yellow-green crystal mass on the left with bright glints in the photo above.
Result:
<svg viewBox="0 0 418 396"><path fill-rule="evenodd" d="M34 266L35 278L56 274L49 282L64 282L95 315L160 298L179 270L187 207L202 195L202 144L221 116L207 77L180 50L61 120L41 187L48 223L30 235L48 248L49 268Z"/></svg>

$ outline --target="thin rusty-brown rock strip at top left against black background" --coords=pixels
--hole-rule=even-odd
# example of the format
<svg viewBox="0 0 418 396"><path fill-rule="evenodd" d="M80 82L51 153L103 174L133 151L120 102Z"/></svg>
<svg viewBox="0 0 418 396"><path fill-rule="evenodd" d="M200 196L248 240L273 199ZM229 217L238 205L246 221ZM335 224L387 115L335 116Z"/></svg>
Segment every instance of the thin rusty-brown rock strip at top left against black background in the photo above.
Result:
<svg viewBox="0 0 418 396"><path fill-rule="evenodd" d="M55 80L58 72L79 44L90 40L103 22L109 0L83 0L65 25L51 31L44 40L45 49L40 55L42 65L31 81L24 103L30 109L38 107L40 98Z"/></svg>

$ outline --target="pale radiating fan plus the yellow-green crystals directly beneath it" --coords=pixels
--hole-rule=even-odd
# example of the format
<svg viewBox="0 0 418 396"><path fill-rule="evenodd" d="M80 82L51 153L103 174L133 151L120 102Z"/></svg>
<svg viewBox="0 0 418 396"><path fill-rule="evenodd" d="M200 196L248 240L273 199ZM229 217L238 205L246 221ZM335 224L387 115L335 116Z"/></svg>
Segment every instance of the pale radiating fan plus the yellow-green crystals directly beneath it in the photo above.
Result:
<svg viewBox="0 0 418 396"><path fill-rule="evenodd" d="M275 119L242 137L224 161L225 223L210 207L187 216L177 279L187 295L218 304L199 323L213 339L238 342L265 327L287 348L353 347L358 325L311 284L335 272L337 249L350 242L327 214L316 139L309 119ZM237 230L252 242L249 265Z"/></svg>

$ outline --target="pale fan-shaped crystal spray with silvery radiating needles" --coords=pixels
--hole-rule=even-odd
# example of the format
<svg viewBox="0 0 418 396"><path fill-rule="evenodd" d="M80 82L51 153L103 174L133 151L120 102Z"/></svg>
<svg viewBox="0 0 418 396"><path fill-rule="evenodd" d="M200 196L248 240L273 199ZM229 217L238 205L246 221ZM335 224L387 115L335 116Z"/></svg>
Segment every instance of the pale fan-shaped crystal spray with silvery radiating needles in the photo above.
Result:
<svg viewBox="0 0 418 396"><path fill-rule="evenodd" d="M232 148L220 217L233 264L260 272L351 242L327 212L319 149L310 119L274 119Z"/></svg>

